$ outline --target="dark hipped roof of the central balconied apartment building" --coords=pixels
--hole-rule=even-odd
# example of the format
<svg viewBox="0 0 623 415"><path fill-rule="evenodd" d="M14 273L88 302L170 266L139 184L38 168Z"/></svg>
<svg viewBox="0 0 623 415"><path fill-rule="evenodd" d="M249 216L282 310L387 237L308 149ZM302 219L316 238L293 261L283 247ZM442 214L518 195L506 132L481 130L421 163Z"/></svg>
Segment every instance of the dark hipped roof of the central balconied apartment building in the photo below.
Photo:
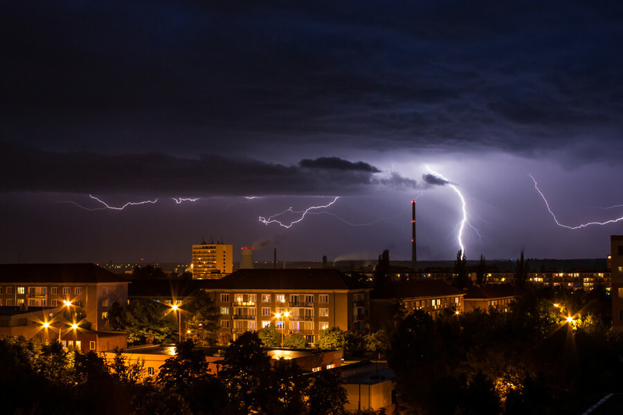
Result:
<svg viewBox="0 0 623 415"><path fill-rule="evenodd" d="M359 288L350 277L332 268L237 270L210 284L210 289L348 290Z"/></svg>

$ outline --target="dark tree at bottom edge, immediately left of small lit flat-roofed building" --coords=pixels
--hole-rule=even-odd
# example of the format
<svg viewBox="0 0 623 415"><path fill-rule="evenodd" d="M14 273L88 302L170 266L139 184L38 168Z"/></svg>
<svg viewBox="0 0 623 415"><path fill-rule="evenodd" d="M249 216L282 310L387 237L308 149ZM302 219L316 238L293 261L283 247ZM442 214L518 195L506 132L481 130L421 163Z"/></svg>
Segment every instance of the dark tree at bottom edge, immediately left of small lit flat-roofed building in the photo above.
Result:
<svg viewBox="0 0 623 415"><path fill-rule="evenodd" d="M344 414L348 395L339 369L321 370L309 388L309 413L314 415Z"/></svg>

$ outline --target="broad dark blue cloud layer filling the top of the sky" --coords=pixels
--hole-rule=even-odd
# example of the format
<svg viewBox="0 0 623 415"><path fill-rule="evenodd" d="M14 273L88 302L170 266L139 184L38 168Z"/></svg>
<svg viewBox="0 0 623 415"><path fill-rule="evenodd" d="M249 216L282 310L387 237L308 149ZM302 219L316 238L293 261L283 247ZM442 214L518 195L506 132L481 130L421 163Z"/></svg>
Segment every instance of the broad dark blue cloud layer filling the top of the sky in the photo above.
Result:
<svg viewBox="0 0 623 415"><path fill-rule="evenodd" d="M622 149L620 3L13 2L0 133L46 149ZM33 122L33 117L37 122ZM562 156L559 156L562 157Z"/></svg>

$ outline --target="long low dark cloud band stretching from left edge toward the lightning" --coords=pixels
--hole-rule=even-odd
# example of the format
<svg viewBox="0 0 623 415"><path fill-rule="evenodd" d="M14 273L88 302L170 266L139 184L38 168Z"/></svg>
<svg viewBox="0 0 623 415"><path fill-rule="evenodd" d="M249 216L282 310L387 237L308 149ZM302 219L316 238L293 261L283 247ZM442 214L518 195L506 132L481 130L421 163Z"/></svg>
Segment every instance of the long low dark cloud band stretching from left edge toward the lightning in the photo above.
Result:
<svg viewBox="0 0 623 415"><path fill-rule="evenodd" d="M0 145L1 192L69 192L244 196L352 194L370 185L415 187L415 181L341 158L303 160L298 166L206 154L197 159L160 153L60 153ZM313 168L310 168L313 167Z"/></svg>

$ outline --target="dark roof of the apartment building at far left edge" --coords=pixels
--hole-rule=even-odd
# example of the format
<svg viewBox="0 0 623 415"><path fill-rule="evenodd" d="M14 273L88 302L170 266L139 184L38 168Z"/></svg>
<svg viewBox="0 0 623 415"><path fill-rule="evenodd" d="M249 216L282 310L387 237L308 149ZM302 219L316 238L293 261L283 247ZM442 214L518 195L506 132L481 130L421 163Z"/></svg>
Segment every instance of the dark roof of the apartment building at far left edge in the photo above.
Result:
<svg viewBox="0 0 623 415"><path fill-rule="evenodd" d="M96 264L0 264L0 282L129 282Z"/></svg>

